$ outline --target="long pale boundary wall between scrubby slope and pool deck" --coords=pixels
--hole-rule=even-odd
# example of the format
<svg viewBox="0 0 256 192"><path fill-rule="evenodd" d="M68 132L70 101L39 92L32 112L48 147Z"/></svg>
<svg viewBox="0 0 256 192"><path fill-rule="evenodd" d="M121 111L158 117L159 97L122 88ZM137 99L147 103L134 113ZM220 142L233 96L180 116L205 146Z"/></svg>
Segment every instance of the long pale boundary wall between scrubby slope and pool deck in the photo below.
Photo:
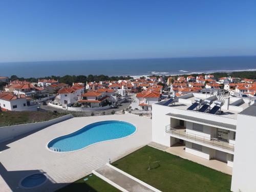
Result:
<svg viewBox="0 0 256 192"><path fill-rule="evenodd" d="M56 119L52 119L50 121L44 121L44 122L38 122L38 123L28 123L28 124L0 127L0 142L7 141L19 135L23 135L23 134L41 129L43 127L47 127L52 124L55 124L70 118L73 118L73 115L69 114Z"/></svg>

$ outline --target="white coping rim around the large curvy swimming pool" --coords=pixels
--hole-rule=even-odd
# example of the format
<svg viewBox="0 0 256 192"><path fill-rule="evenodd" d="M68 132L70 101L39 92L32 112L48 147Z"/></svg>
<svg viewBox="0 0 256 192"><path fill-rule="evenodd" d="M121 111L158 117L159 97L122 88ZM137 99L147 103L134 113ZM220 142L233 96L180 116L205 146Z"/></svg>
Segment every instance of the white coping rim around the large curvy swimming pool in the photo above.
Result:
<svg viewBox="0 0 256 192"><path fill-rule="evenodd" d="M105 120L105 121L121 121L121 122L125 122L125 123L130 123L130 122L122 121L122 120ZM97 121L97 122L102 122L102 121ZM93 123L97 123L97 122L93 122ZM90 123L90 124L93 124L93 123ZM87 124L87 125L90 125L90 124ZM51 152L53 152L53 153L59 153L59 154L60 154L60 153L72 153L72 152L77 152L77 151L84 150L85 148L87 148L87 147L89 147L89 146L92 146L92 145L95 145L95 144L98 144L98 143L103 143L103 142L109 142L109 141L124 139L124 138L127 138L127 137L131 137L132 135L134 135L134 134L138 131L138 126L137 126L136 124L134 124L134 123L130 123L130 124L132 124L133 126L135 126L135 129L136 129L136 130L135 130L135 132L133 132L132 134L127 135L127 136L125 136L125 137L121 137L121 138L117 138L117 139L110 139L110 140L105 140L105 141L99 141L99 142L90 144L90 145L88 145L88 146L86 146L86 147L80 148L79 150L74 150L74 151L69 151L69 152L61 152L61 151L60 151L60 152L57 152L57 151L52 151L52 150L50 150L50 148L48 147L48 144L49 144L51 141L53 141L54 139L57 139L57 138L59 138L59 137L63 137L63 136L67 136L67 135L70 135L70 134L72 134L72 133L75 133L75 132L77 132L77 131L83 129L83 127L87 126L87 125L84 125L83 127L81 127L80 129L78 129L78 130L75 131L75 132L72 132L72 133L66 134L66 135L61 135L61 136L55 137L54 139L48 141L47 144L46 144L46 148L47 148L48 151L51 151Z"/></svg>

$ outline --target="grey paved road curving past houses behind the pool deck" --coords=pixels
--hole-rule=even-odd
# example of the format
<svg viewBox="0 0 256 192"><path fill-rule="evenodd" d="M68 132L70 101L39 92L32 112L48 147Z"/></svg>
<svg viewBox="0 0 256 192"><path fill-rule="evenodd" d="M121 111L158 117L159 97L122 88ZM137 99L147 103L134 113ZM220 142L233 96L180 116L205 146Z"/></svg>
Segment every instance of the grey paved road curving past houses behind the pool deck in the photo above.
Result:
<svg viewBox="0 0 256 192"><path fill-rule="evenodd" d="M130 101L126 101L126 102L121 103L121 105L118 106L118 108L116 108L116 109L94 111L93 113L95 115L99 115L99 114L102 114L103 112L105 112L105 115L111 115L112 111L115 111L115 112L120 111L121 112L122 110L125 110L126 108L128 108L130 105L131 105ZM71 113L75 116L76 115L77 116L91 116L91 114L92 114L92 111L82 111L82 112L68 111L68 110L62 110L62 109L54 108L53 106L50 106L50 105L43 105L42 103L41 103L40 109L42 111L46 110L46 111L57 111L59 113Z"/></svg>

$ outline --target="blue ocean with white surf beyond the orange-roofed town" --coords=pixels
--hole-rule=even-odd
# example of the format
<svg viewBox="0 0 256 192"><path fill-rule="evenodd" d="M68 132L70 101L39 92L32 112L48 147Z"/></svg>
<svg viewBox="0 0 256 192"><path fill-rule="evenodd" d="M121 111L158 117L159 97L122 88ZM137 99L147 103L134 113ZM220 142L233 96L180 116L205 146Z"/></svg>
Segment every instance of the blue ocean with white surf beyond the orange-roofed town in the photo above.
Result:
<svg viewBox="0 0 256 192"><path fill-rule="evenodd" d="M0 63L0 76L25 78L89 74L137 77L232 71L256 71L256 56Z"/></svg>

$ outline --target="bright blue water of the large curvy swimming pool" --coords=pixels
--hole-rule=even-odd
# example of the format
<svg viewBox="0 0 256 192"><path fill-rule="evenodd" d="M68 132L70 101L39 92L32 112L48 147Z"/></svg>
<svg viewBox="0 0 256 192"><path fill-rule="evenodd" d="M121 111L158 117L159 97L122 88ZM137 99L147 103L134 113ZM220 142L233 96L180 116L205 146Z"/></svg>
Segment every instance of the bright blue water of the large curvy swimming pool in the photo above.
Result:
<svg viewBox="0 0 256 192"><path fill-rule="evenodd" d="M84 126L69 135L53 139L48 147L53 151L70 152L80 150L91 144L129 136L136 127L124 121L100 121Z"/></svg>

